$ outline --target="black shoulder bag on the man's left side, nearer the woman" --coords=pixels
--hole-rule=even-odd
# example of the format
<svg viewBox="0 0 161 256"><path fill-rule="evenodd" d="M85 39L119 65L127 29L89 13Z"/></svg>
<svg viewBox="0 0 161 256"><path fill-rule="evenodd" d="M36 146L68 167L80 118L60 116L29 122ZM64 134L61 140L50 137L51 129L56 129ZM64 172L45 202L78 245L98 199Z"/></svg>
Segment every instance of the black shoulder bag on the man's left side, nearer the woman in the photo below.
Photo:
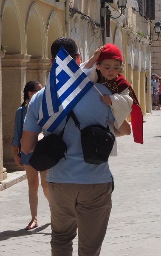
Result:
<svg viewBox="0 0 161 256"><path fill-rule="evenodd" d="M70 118L68 114L65 125ZM65 126L59 135L50 134L43 137L42 140L37 142L34 148L34 152L29 160L29 164L39 172L50 169L55 166L62 157L65 158L65 151L67 151L67 145L62 140Z"/></svg>

